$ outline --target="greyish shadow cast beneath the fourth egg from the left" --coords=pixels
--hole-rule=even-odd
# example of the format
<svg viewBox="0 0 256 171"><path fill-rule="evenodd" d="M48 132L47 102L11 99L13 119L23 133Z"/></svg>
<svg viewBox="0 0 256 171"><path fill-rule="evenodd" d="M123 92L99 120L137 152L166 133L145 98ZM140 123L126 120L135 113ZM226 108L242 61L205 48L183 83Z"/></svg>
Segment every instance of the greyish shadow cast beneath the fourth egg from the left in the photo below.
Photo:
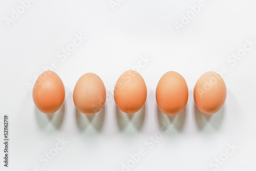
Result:
<svg viewBox="0 0 256 171"><path fill-rule="evenodd" d="M165 115L157 106L157 118L160 128L165 127L169 133L182 132L186 120L186 107L175 116Z"/></svg>

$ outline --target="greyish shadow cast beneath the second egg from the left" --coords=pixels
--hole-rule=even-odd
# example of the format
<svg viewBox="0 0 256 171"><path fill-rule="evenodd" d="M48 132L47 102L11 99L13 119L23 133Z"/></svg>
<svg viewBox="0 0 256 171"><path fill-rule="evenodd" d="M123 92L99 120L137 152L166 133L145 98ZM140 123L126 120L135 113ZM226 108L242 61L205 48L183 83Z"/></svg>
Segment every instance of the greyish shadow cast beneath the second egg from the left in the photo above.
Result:
<svg viewBox="0 0 256 171"><path fill-rule="evenodd" d="M79 131L83 132L84 130L93 127L97 132L102 130L102 126L105 118L105 105L103 108L96 114L86 115L78 111L76 108L76 123Z"/></svg>

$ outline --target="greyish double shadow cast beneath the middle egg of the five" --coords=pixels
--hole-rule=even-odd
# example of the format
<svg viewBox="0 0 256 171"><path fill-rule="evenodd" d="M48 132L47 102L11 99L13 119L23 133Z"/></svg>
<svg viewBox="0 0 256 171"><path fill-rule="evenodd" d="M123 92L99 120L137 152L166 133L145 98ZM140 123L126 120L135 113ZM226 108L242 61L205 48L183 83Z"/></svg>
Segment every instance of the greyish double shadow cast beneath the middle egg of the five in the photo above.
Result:
<svg viewBox="0 0 256 171"><path fill-rule="evenodd" d="M146 104L144 104L138 112L133 114L126 114L122 112L116 105L116 119L119 130L124 131L129 127L131 128L130 131L140 131L145 119L145 105ZM135 132L132 131L131 133Z"/></svg>

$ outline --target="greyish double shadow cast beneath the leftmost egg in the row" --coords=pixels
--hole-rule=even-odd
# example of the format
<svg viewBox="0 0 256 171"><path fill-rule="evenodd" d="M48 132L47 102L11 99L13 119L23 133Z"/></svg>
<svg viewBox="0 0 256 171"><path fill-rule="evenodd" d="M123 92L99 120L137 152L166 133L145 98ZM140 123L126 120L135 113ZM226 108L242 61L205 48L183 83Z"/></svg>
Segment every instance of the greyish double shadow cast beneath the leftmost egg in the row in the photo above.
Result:
<svg viewBox="0 0 256 171"><path fill-rule="evenodd" d="M35 118L41 129L45 129L46 127L52 125L55 129L59 130L63 118L65 115L65 102L61 105L60 109L52 114L45 114L39 111L35 106Z"/></svg>

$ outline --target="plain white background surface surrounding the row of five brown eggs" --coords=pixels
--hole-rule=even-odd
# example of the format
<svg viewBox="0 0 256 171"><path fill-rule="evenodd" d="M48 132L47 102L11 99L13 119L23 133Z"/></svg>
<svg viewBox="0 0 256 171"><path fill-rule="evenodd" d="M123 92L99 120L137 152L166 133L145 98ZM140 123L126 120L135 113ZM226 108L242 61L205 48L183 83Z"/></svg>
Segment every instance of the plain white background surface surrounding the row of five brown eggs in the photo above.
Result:
<svg viewBox="0 0 256 171"><path fill-rule="evenodd" d="M256 45L235 65L228 56L256 41L255 1L205 0L190 22L180 29L182 14L199 1L119 1L113 10L105 1L36 1L10 23L19 1L0 2L0 119L9 115L9 168L1 170L121 170L122 162L144 148L146 155L130 170L214 170L209 163L226 152L236 152L218 170L254 170L256 154ZM57 53L72 44L76 34L87 39L61 61ZM116 109L113 88L118 77L138 66L140 56L151 60L140 68L147 86L143 110L125 115ZM56 60L54 71L65 84L65 105L54 115L36 110L28 85ZM207 71L220 71L227 86L222 110L210 117L195 109L193 89ZM185 112L167 117L157 110L155 90L167 71L179 72L189 89ZM108 99L95 116L76 113L73 89L87 72L103 80ZM3 120L2 120L3 121ZM172 129L154 144L144 142L160 130ZM3 137L3 122L1 137ZM69 141L45 165L39 157L58 142ZM2 141L1 141L2 142ZM3 143L0 145L4 155Z"/></svg>

